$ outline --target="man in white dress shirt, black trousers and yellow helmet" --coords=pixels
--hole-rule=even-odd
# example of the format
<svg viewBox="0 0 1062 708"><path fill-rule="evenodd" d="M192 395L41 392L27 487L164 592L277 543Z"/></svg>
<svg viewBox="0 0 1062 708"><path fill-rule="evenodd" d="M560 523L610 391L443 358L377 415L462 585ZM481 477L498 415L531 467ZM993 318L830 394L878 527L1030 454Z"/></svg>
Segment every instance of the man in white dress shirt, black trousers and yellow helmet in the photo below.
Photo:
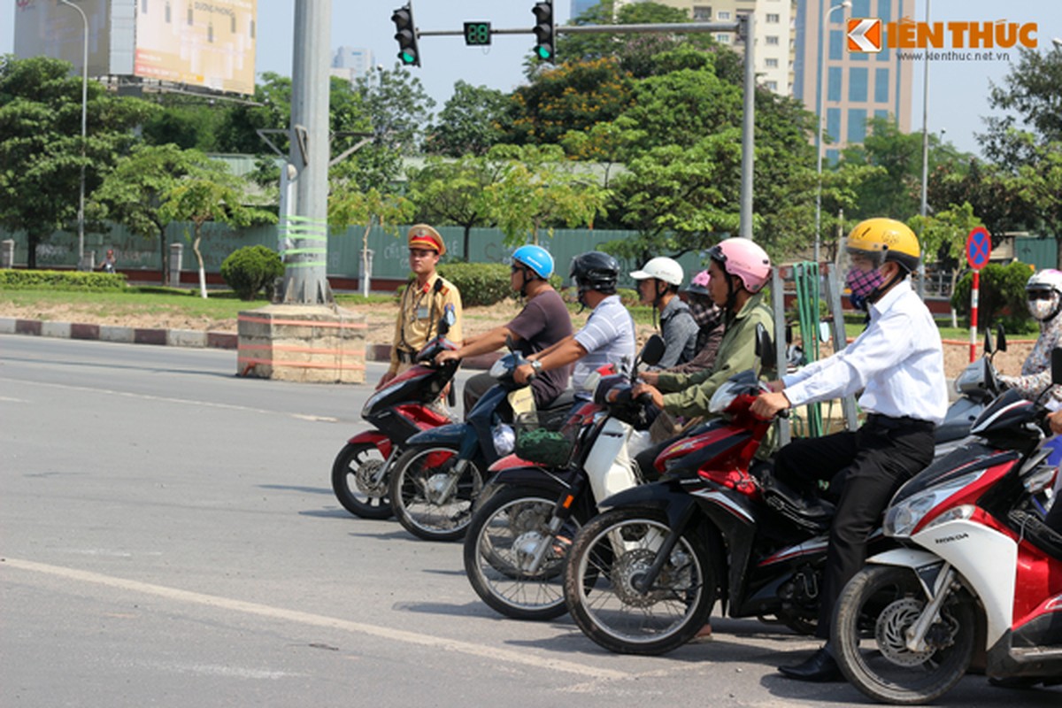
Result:
<svg viewBox="0 0 1062 708"><path fill-rule="evenodd" d="M896 489L932 461L933 428L947 409L940 332L907 277L921 257L918 238L898 221L870 219L852 229L846 247L854 267L881 276L867 297L870 325L834 356L772 381L772 393L752 407L770 417L862 391L867 421L859 430L794 441L778 451L774 468L777 479L803 489L827 482L838 500L819 594L817 634L827 639L837 598L867 559L869 535ZM780 671L801 680L842 678L828 643Z"/></svg>

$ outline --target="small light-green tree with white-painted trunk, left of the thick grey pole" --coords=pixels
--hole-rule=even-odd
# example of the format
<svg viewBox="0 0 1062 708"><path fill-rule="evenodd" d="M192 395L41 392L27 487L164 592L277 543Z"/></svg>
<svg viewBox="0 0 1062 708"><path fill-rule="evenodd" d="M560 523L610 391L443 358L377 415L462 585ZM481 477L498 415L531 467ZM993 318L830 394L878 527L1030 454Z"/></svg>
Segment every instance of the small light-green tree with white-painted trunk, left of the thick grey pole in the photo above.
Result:
<svg viewBox="0 0 1062 708"><path fill-rule="evenodd" d="M199 263L200 295L206 298L206 269L200 243L203 240L203 224L208 221L221 222L233 227L250 226L255 223L273 223L276 214L245 206L247 202L243 182L230 175L219 166L217 169L196 171L166 189L161 195L160 214L167 223L190 221L192 223L192 252Z"/></svg>

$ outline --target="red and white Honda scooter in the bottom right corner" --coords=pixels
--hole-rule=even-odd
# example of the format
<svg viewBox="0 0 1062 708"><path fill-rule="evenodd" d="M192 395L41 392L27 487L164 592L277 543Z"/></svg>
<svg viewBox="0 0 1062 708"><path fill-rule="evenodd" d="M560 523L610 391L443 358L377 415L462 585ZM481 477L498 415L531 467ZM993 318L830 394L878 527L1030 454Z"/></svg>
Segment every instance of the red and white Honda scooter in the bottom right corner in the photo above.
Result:
<svg viewBox="0 0 1062 708"><path fill-rule="evenodd" d="M1051 373L1062 383L1062 349ZM1062 684L1062 533L1039 503L1058 473L1041 447L1045 415L1006 392L893 496L885 533L902 548L867 562L833 622L835 658L866 695L935 701L979 649L994 679Z"/></svg>

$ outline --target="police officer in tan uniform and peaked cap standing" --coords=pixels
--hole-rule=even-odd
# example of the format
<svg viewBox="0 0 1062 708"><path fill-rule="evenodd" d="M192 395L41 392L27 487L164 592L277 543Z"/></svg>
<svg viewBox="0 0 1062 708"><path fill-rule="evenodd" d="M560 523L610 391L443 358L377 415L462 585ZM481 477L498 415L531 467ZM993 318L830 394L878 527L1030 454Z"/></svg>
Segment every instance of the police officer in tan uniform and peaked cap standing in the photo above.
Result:
<svg viewBox="0 0 1062 708"><path fill-rule="evenodd" d="M439 318L447 306L453 308L456 320L446 336L461 344L461 293L435 273L435 265L445 253L443 237L432 227L416 224L409 229L409 269L414 277L402 293L391 346L391 366L376 384L377 388L412 366L416 352L439 335Z"/></svg>

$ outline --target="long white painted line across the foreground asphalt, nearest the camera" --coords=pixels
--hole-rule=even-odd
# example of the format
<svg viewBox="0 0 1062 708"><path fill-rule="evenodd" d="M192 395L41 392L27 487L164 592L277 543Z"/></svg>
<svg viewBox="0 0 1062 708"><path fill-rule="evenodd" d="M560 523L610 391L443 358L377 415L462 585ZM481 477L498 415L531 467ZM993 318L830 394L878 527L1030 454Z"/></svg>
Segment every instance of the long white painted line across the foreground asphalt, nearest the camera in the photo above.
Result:
<svg viewBox="0 0 1062 708"><path fill-rule="evenodd" d="M417 634L415 632L405 632L402 629L393 629L391 627L364 624L362 622L350 622L349 620L341 620L335 617L326 617L324 615L301 612L298 610L285 609L282 607L271 607L269 605L259 605L258 603L244 602L242 600L233 600L230 598L221 598L218 595L203 594L201 592L179 590L177 588L170 588L162 585L140 583L138 581L130 581L121 577L114 577L112 575L101 575L100 573L76 570L74 568L64 568L62 566L52 566L42 563L34 563L32 560L21 560L18 558L3 558L2 563L0 563L0 567L17 568L19 570L45 573L47 575L63 577L70 581L92 583L95 585L103 585L132 592L142 592L144 594L165 598L167 600L203 605L206 607L215 607L218 609L227 609L237 612L245 612L247 615L257 615L259 617L268 617L275 620L286 620L311 626L355 632L391 641L405 642L407 644L417 644L419 646L429 646L448 652L460 652L462 654L468 654L470 656L477 656L492 661L508 661L510 663L524 664L535 669L563 671L569 674L578 674L598 679L623 679L631 677L630 674L622 671L599 669L597 667L575 663L570 660L562 661L560 659L550 659L542 656L535 656L528 652L514 652L498 646L473 644L472 642L460 641L457 639L432 637L430 635Z"/></svg>

